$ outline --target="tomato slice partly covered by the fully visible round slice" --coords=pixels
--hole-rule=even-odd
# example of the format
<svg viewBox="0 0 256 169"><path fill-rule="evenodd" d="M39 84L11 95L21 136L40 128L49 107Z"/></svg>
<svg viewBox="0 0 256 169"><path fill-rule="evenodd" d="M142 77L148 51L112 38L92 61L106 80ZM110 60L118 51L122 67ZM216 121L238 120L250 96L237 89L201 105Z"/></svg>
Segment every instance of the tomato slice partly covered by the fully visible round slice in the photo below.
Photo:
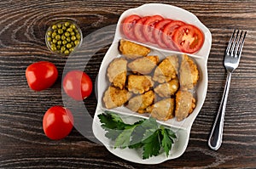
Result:
<svg viewBox="0 0 256 169"><path fill-rule="evenodd" d="M185 25L185 23L180 20L173 20L171 23L167 24L163 30L162 40L166 43L166 46L172 50L177 50L172 37L174 35L174 31L176 31L181 25Z"/></svg>

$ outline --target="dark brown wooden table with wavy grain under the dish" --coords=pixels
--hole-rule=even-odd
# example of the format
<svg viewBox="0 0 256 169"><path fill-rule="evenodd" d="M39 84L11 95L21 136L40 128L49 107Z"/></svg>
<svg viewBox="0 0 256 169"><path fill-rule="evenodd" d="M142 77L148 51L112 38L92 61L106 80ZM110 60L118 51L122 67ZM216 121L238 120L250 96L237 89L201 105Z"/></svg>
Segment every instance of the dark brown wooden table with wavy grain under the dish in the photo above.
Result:
<svg viewBox="0 0 256 169"><path fill-rule="evenodd" d="M143 166L112 155L102 144L75 128L67 138L53 141L42 129L44 112L63 105L61 76L67 57L52 54L44 34L56 19L73 19L84 37L116 24L128 8L157 1L1 1L0 2L0 168L255 168L256 167L256 1L172 0L172 4L198 16L212 32L208 59L207 99L191 129L185 153L160 165ZM231 81L224 123L224 142L218 151L207 146L225 82L224 49L234 29L247 31L241 63ZM107 32L113 37L113 31ZM85 67L96 81L109 45L99 50ZM80 58L81 59L81 58ZM84 61L85 58L81 59ZM40 93L26 84L26 66L48 60L57 66L55 85ZM74 65L81 65L81 60ZM93 116L96 94L84 100ZM90 130L90 129L88 129Z"/></svg>

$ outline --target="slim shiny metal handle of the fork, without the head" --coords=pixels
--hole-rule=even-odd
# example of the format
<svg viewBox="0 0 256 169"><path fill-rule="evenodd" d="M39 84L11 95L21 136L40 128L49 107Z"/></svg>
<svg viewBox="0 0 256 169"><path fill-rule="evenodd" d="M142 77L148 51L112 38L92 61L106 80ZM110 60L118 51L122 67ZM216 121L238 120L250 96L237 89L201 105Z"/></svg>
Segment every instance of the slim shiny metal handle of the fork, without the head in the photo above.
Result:
<svg viewBox="0 0 256 169"><path fill-rule="evenodd" d="M212 132L208 140L208 145L211 149L217 150L222 143L223 127L224 127L224 114L227 104L227 99L230 91L231 72L228 71L224 93L218 108L218 114L214 121Z"/></svg>

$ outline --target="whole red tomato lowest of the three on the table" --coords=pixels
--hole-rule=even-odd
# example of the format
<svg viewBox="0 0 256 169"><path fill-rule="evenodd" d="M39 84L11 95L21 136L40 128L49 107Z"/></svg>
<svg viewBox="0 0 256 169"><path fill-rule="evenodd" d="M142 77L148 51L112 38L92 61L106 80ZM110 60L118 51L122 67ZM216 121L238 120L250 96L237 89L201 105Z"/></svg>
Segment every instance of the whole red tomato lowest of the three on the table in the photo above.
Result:
<svg viewBox="0 0 256 169"><path fill-rule="evenodd" d="M70 110L53 106L46 111L43 118L45 135L50 139L65 138L73 128L73 115Z"/></svg>

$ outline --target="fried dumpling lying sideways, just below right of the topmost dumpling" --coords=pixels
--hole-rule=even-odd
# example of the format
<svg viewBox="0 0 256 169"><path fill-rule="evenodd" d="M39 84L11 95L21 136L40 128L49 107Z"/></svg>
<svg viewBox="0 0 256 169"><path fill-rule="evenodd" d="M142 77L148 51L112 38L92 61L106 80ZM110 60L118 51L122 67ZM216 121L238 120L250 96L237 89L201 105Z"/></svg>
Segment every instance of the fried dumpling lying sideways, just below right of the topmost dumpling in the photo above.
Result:
<svg viewBox="0 0 256 169"><path fill-rule="evenodd" d="M128 64L128 67L134 73L146 75L154 70L154 67L158 64L158 62L158 56L146 56L133 60L131 63Z"/></svg>

